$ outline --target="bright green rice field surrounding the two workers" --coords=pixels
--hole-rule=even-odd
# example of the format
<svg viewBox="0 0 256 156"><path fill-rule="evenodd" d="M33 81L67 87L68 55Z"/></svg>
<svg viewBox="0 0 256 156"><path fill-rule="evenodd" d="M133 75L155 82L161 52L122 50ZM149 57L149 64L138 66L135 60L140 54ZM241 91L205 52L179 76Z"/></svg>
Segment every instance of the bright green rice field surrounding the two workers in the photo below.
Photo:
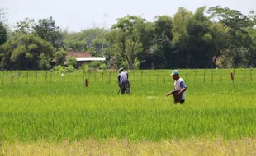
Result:
<svg viewBox="0 0 256 156"><path fill-rule="evenodd" d="M38 148L41 142L47 147L59 147L64 141L87 146L90 140L97 148L102 147L99 140L107 145L127 142L133 148L144 143L149 148L154 144L164 148L166 142L175 146L210 141L210 147L221 139L227 141L221 144L226 148L232 149L229 145L234 140L239 143L235 149L242 153L235 154L256 154L254 69L179 70L187 85L183 105L173 105L172 97L165 97L173 89L170 71L130 71L130 95L117 94L116 71L64 75L55 71L0 71L0 151L16 155L22 153L15 153L13 146L27 147L31 152L30 148ZM231 80L230 72L235 80ZM253 145L247 151L250 153L239 149L245 144L243 140ZM114 155L121 154L121 147L116 147ZM156 150L159 153L155 154L161 154L161 148ZM162 154L185 154L189 147L180 151ZM228 151L220 154L234 154ZM133 154L126 152L122 154Z"/></svg>

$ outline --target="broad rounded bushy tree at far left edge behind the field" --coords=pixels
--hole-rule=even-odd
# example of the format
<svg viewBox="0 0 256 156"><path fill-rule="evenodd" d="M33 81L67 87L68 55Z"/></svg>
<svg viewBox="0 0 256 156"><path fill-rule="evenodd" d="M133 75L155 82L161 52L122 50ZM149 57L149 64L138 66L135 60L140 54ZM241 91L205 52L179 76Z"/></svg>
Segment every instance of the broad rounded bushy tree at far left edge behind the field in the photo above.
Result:
<svg viewBox="0 0 256 156"><path fill-rule="evenodd" d="M47 69L53 58L52 45L35 34L12 36L2 45L1 64L15 69Z"/></svg>

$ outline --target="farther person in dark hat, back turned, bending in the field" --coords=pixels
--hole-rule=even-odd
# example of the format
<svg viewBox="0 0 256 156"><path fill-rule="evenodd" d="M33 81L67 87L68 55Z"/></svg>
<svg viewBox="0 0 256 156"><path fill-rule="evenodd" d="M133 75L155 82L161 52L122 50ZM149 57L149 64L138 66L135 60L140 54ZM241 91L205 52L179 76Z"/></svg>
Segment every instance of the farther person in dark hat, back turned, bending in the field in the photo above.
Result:
<svg viewBox="0 0 256 156"><path fill-rule="evenodd" d="M121 67L118 74L118 85L121 91L121 94L130 94L130 83L128 80L128 73Z"/></svg>

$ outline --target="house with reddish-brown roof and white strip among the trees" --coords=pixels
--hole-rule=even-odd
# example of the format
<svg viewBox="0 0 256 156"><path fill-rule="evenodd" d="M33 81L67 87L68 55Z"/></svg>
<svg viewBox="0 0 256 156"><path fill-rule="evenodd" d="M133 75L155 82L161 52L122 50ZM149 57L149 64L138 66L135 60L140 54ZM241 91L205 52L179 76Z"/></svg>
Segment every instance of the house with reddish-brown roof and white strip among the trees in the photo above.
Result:
<svg viewBox="0 0 256 156"><path fill-rule="evenodd" d="M75 57L76 61L77 61L77 66L81 66L83 63L89 63L89 62L93 62L93 61L105 61L106 58L104 57L92 57L92 55L90 53L87 52L75 52L75 51L69 51L67 57L66 57L66 61L64 62L64 64L66 65L69 57Z"/></svg>

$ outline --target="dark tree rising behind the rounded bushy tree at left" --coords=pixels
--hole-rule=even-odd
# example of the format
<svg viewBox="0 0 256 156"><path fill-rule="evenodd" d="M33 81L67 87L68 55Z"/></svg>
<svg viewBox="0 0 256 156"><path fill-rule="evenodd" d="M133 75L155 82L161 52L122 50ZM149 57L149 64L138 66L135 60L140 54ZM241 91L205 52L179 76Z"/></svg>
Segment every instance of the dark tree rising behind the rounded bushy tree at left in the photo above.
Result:
<svg viewBox="0 0 256 156"><path fill-rule="evenodd" d="M62 48L63 37L60 34L59 26L55 25L55 20L50 17L49 19L40 19L38 24L34 26L35 34L39 35L41 39L50 42L54 48Z"/></svg>

